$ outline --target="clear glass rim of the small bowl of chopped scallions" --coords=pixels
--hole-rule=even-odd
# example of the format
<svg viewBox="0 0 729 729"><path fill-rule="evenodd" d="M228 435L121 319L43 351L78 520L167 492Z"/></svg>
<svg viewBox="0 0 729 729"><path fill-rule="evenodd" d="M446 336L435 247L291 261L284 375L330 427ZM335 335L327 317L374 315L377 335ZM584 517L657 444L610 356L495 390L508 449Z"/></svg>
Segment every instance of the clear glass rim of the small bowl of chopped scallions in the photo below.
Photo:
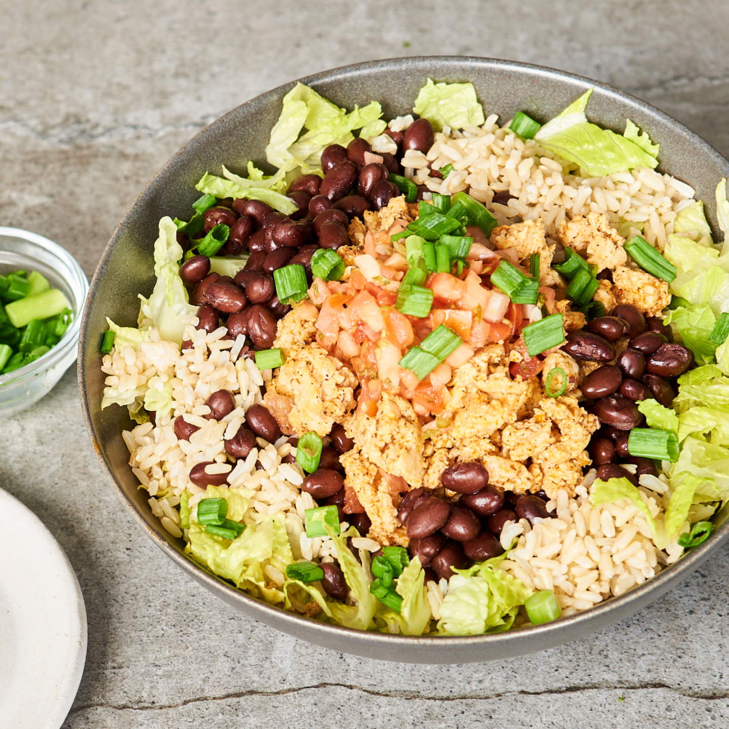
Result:
<svg viewBox="0 0 729 729"><path fill-rule="evenodd" d="M0 375L1 388L9 384L17 385L17 383L23 380L23 378L36 375L40 370L43 370L46 367L52 367L53 364L55 364L52 360L59 359L61 355L66 354L66 351L68 351L69 348L73 348L74 343L79 340L79 335L81 333L81 322L86 308L86 298L88 296L90 284L88 278L86 278L86 274L81 268L81 265L79 265L79 262L74 258L74 256L63 248L63 246L60 246L50 238L46 238L40 233L34 233L32 230L24 230L23 228L7 227L3 225L0 225L0 235L5 238L20 238L20 240L28 241L29 243L36 243L36 245L46 249L58 259L63 260L63 262L71 268L74 274L76 274L82 289L78 297L78 311L75 312L74 320L71 321L71 326L66 330L63 337L58 340L58 344L50 348L50 350L42 356L39 356L39 358L34 362L26 364L25 367L19 367L17 370ZM61 278L66 281L66 284L68 284L71 289L74 288L73 281L69 281L66 276L61 276Z"/></svg>

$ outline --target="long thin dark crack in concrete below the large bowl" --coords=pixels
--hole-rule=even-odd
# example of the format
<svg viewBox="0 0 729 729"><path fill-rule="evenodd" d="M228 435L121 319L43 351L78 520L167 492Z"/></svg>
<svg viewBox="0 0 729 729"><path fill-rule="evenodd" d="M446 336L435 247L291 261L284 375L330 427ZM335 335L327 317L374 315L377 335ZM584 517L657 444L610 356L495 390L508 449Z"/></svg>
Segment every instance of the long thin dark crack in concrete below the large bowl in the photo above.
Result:
<svg viewBox="0 0 729 729"><path fill-rule="evenodd" d="M361 686L354 686L350 684L340 683L320 683L311 686L299 686L285 688L278 691L234 691L232 693L226 693L219 696L196 696L195 698L187 698L184 701L169 704L112 704L112 703L90 703L85 706L76 706L69 712L71 714L79 714L80 712L86 712L90 709L114 709L115 711L132 710L138 712L148 711L164 711L166 709L181 709L183 706L188 706L191 703L204 703L206 701L229 701L230 699L246 698L249 696L286 696L293 693L301 693L303 691L309 691L314 689L327 689L327 688L344 688L350 691L359 691L370 696L377 696L378 698L389 698L389 699L401 699L402 701L491 701L494 698L504 698L505 696L545 696L545 695L563 695L569 693L581 693L582 691L597 691L597 690L610 690L610 691L641 691L641 690L660 690L668 689L674 693L677 693L685 698L701 699L703 701L720 701L721 699L729 698L729 691L726 692L706 692L706 691L685 691L677 689L673 686L658 682L644 682L636 684L616 684L616 685L601 685L601 684L586 684L582 686L566 686L560 689L545 689L543 691L504 691L503 693L494 693L490 695L475 695L475 694L459 694L454 696L425 696L418 693L411 693L406 691L395 691L392 693L386 693L384 691L376 691L373 689L363 688Z"/></svg>

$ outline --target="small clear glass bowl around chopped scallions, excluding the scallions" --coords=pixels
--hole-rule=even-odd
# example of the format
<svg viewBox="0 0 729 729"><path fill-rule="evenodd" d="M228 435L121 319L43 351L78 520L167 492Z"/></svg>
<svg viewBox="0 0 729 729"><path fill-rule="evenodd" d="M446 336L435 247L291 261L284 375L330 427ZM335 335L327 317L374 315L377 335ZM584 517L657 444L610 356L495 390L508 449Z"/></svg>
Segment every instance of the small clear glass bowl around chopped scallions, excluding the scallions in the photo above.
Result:
<svg viewBox="0 0 729 729"><path fill-rule="evenodd" d="M69 300L74 320L61 341L35 362L0 375L0 419L20 413L49 392L77 355L81 313L89 290L76 259L58 243L20 228L0 226L0 274L23 268L42 273Z"/></svg>

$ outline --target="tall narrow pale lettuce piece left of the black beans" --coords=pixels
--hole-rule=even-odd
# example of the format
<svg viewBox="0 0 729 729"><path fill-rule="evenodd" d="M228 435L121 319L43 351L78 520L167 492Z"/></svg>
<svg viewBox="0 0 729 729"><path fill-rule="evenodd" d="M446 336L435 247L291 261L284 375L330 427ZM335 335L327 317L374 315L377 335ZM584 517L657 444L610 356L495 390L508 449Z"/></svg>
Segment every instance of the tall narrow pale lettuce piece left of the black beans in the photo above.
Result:
<svg viewBox="0 0 729 729"><path fill-rule="evenodd" d="M149 297L149 311L160 338L182 345L182 317L195 316L197 306L191 306L187 290L179 276L182 246L177 242L177 226L165 215L160 220L160 236L155 241L155 276L157 283Z"/></svg>

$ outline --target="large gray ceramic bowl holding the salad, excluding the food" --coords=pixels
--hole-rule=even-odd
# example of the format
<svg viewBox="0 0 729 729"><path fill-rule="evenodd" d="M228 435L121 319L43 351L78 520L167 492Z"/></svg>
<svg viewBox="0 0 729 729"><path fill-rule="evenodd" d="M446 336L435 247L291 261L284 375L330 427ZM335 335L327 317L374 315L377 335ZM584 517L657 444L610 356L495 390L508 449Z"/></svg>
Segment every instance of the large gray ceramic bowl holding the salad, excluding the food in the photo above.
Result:
<svg viewBox="0 0 729 729"><path fill-rule="evenodd" d="M590 120L622 133L629 117L647 130L651 139L661 145L660 169L695 187L698 198L707 203L709 220L716 230L714 189L722 176L729 176L727 160L658 109L589 79L521 63L440 57L362 63L326 71L302 82L348 109L373 99L380 101L385 118L391 118L410 112L418 89L429 77L436 81L473 82L486 113L496 112L502 119L522 110L545 121L594 86ZM270 128L278 118L281 99L293 85L286 84L241 104L182 147L129 208L91 282L79 342L79 383L86 424L106 475L140 526L181 569L246 615L333 650L408 663L469 663L550 648L622 620L685 580L729 536L725 514L717 517L720 526L711 539L676 566L619 598L555 623L472 637L365 633L297 617L245 595L187 559L182 553L182 539L167 534L152 516L145 492L137 490L138 482L127 464L129 454L120 434L122 428L131 424L126 410L99 410L104 375L99 369L98 348L106 329L104 317L110 316L118 324L135 325L139 311L137 294L149 295L154 284L152 247L160 217L184 217L199 195L194 185L206 171L220 174L222 163L234 171L243 170L249 159L264 163Z"/></svg>

